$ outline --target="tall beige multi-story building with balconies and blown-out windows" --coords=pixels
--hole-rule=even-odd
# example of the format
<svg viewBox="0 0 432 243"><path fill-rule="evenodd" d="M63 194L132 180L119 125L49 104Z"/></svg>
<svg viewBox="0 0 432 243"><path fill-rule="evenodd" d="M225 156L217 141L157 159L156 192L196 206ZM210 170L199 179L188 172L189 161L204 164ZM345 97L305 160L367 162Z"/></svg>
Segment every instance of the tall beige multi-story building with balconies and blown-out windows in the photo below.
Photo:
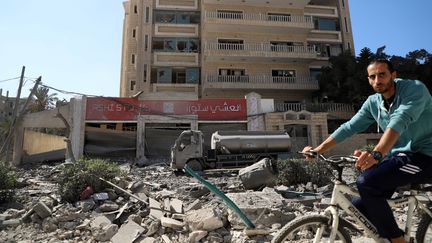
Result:
<svg viewBox="0 0 432 243"><path fill-rule="evenodd" d="M353 50L348 0L129 0L120 96L309 102L330 56ZM141 92L142 91L142 92Z"/></svg>

